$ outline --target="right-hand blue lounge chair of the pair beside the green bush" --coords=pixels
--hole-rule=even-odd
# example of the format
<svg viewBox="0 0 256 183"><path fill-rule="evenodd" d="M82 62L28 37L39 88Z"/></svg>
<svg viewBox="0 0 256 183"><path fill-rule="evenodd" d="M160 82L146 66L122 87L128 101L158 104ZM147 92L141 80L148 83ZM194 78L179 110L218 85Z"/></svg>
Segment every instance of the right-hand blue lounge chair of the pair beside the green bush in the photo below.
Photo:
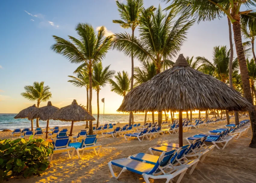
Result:
<svg viewBox="0 0 256 183"><path fill-rule="evenodd" d="M100 154L102 145L101 144L96 145L97 139L98 139L98 135L88 135L83 138L82 142L70 143L69 146L76 148L78 158L81 158L79 151L83 150L83 153L84 153L84 151L88 149L94 149L95 154L98 156ZM99 148L98 153L96 152L96 148ZM83 157L83 153L82 153L82 157Z"/></svg>

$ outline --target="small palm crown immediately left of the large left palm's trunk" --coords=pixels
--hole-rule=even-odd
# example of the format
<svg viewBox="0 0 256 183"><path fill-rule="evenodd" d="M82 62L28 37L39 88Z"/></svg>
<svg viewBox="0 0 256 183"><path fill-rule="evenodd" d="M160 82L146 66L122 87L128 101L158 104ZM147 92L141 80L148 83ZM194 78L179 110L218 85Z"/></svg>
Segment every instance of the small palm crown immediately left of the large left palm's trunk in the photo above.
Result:
<svg viewBox="0 0 256 183"><path fill-rule="evenodd" d="M76 73L76 77L68 77L71 78L68 82L72 83L75 87L86 87L86 89L89 89L89 75L86 68L80 69L80 71Z"/></svg>

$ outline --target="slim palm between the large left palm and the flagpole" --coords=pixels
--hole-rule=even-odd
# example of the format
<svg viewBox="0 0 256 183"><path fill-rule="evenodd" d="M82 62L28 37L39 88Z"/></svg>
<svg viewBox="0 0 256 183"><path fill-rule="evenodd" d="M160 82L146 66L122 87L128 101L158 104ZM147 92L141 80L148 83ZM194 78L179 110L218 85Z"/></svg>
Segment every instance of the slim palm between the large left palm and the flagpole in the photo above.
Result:
<svg viewBox="0 0 256 183"><path fill-rule="evenodd" d="M115 74L115 71L109 70L109 66L105 67L103 69L102 63L97 62L93 65L93 72L92 72L92 87L97 92L97 128L99 126L99 92L101 90L101 87L105 87L106 84L109 82L109 80L112 78L112 76Z"/></svg>

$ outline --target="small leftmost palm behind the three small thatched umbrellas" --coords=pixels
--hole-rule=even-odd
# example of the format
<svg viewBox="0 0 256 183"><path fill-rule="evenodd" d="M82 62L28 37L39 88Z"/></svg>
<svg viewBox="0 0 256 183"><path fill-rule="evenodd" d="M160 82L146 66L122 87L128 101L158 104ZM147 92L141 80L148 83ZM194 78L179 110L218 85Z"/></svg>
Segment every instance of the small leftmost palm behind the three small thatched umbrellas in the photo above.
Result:
<svg viewBox="0 0 256 183"><path fill-rule="evenodd" d="M36 101L37 107L39 107L40 102L46 102L52 97L52 93L49 91L49 86L44 86L44 81L34 82L32 86L25 86L25 92L21 93L25 99L30 101ZM36 127L39 127L38 118L36 118Z"/></svg>

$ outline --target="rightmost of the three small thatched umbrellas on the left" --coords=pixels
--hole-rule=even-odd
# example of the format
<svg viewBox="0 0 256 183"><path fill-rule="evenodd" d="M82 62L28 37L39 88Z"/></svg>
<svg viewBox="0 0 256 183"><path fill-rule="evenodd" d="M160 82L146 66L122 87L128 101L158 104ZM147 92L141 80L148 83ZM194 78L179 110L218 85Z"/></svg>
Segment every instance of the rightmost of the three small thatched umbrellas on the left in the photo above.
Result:
<svg viewBox="0 0 256 183"><path fill-rule="evenodd" d="M70 136L72 136L73 124L76 121L92 121L95 118L82 106L78 105L76 100L73 100L71 105L61 108L55 112L51 119L61 121L72 121Z"/></svg>

